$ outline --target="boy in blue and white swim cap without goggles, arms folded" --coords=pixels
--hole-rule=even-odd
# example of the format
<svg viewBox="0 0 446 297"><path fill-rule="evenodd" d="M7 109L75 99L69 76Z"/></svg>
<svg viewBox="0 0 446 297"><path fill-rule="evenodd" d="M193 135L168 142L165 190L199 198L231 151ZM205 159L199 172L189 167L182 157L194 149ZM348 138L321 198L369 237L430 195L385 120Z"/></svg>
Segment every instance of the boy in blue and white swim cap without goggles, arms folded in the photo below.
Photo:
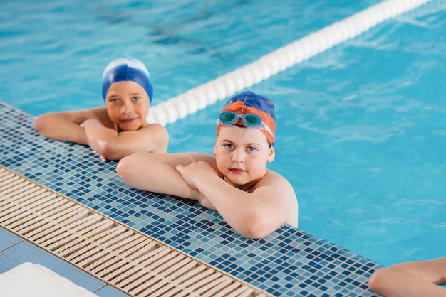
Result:
<svg viewBox="0 0 446 297"><path fill-rule="evenodd" d="M166 152L167 130L146 121L152 94L145 65L128 56L118 58L103 72L105 107L42 114L34 128L50 139L86 144L103 160L138 152Z"/></svg>

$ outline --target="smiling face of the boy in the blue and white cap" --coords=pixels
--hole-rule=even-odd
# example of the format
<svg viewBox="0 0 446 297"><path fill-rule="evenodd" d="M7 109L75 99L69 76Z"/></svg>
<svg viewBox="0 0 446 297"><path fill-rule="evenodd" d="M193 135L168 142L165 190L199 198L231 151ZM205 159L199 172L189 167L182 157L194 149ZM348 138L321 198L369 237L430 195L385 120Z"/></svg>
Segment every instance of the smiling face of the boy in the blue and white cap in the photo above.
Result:
<svg viewBox="0 0 446 297"><path fill-rule="evenodd" d="M123 131L135 131L145 124L149 104L147 92L133 81L115 82L105 97L108 117Z"/></svg>

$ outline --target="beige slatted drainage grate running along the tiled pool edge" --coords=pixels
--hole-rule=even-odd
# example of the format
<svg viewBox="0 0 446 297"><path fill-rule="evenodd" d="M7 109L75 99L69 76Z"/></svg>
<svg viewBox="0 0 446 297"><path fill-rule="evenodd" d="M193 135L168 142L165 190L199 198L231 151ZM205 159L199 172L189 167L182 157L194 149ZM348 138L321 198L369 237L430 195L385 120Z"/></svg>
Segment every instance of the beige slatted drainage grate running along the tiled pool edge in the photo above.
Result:
<svg viewBox="0 0 446 297"><path fill-rule="evenodd" d="M0 225L133 296L266 296L3 166Z"/></svg>

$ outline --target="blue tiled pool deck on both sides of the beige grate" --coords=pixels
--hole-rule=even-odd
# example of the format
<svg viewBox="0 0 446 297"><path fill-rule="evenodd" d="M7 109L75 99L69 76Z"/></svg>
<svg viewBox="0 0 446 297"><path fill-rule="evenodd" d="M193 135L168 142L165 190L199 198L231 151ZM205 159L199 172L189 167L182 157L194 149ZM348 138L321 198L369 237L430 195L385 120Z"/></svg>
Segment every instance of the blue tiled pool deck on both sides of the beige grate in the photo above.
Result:
<svg viewBox="0 0 446 297"><path fill-rule="evenodd" d="M86 146L40 136L34 118L20 109L0 102L0 117L1 166L118 224L271 296L378 296L367 281L380 265L369 259L288 225L264 239L246 239L195 201L130 188L115 162L100 161ZM32 261L98 296L126 295L0 227L0 274Z"/></svg>

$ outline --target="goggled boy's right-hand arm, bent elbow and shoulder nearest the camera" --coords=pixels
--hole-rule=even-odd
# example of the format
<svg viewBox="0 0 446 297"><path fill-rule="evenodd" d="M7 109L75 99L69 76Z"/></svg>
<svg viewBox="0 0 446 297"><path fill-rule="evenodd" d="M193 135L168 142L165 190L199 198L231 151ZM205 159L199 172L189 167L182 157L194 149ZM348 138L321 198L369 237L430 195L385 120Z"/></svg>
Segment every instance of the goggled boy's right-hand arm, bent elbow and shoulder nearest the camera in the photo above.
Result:
<svg viewBox="0 0 446 297"><path fill-rule="evenodd" d="M251 193L247 193L212 173L212 168L204 162L178 166L177 170L244 237L266 237L288 222L291 211L296 207L294 202L297 198L291 185L271 171Z"/></svg>

